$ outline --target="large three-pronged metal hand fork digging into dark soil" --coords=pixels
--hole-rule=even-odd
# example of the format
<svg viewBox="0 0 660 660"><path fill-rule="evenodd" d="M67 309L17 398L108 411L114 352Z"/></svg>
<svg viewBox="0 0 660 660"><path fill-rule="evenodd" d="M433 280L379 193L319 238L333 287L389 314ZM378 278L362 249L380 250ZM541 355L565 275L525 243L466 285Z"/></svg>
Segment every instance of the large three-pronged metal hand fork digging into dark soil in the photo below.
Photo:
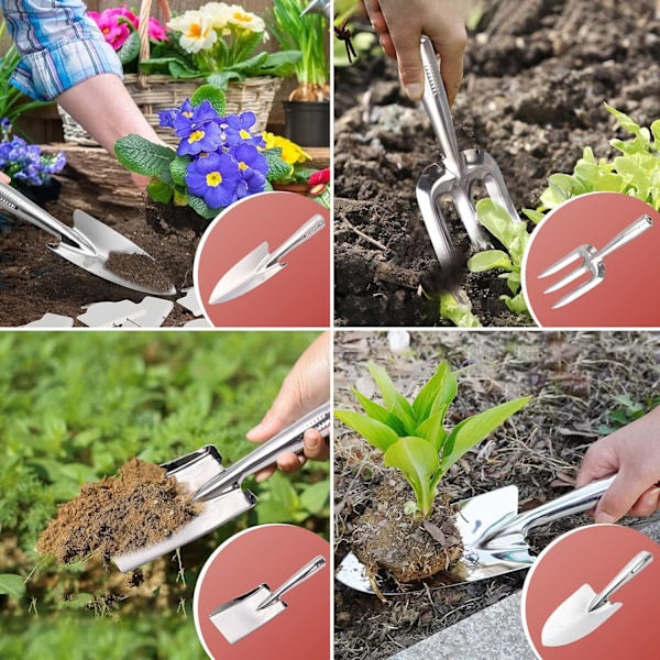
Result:
<svg viewBox="0 0 660 660"><path fill-rule="evenodd" d="M487 194L506 209L513 220L520 219L495 160L480 148L459 152L449 100L428 36L421 37L421 62L426 78L422 103L440 142L442 162L429 165L419 177L417 204L440 265L450 266L455 252L442 215L443 197L453 200L470 241L480 250L490 248L491 240L476 218L475 185L483 184Z"/></svg>

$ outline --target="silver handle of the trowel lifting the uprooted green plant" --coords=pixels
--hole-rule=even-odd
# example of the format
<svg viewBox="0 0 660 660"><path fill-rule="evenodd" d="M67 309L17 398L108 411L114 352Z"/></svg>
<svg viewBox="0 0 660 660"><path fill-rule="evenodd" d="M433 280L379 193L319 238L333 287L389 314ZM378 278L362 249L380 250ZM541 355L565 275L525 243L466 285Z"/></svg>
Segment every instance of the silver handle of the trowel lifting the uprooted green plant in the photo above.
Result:
<svg viewBox="0 0 660 660"><path fill-rule="evenodd" d="M487 543L491 539L504 537L509 534L526 535L535 527L547 525L573 514L587 512L601 499L603 493L612 485L615 477L616 475L593 482L582 488L576 488L565 495L551 499L541 506L518 514L513 518L505 518L499 525L487 530L487 536L482 542Z"/></svg>

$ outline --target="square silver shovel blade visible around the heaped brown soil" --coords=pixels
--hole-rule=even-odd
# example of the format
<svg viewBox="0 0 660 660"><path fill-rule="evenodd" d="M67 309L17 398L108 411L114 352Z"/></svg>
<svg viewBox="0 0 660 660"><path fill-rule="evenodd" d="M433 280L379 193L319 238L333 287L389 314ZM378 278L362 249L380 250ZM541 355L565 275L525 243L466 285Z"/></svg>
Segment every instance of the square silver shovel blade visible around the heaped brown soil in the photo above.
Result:
<svg viewBox="0 0 660 660"><path fill-rule="evenodd" d="M202 449L164 463L167 476L187 486L190 496L204 484L226 471L218 450L209 444ZM221 525L250 510L256 505L256 497L250 491L242 491L239 484L221 495L205 502L204 510L170 536L157 543L138 548L132 552L112 558L122 573L174 552L177 548L206 536Z"/></svg>

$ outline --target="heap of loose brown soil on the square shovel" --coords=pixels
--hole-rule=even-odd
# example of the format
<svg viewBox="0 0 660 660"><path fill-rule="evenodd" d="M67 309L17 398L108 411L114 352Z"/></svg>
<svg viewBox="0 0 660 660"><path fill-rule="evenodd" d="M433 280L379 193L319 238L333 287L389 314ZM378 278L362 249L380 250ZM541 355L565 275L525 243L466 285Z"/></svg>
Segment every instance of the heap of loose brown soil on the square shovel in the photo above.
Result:
<svg viewBox="0 0 660 660"><path fill-rule="evenodd" d="M42 532L37 552L62 563L99 554L103 563L117 554L163 540L197 516L202 505L165 470L132 459L118 476L84 484L63 504Z"/></svg>

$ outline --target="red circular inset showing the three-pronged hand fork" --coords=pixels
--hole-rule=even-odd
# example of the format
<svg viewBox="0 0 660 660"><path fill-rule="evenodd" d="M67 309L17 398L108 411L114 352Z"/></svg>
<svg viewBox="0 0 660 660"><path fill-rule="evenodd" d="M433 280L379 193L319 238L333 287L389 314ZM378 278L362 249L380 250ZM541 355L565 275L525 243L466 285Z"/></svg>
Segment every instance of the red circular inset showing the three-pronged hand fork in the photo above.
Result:
<svg viewBox="0 0 660 660"><path fill-rule="evenodd" d="M575 197L531 234L522 287L544 328L660 326L660 213L619 193Z"/></svg>

